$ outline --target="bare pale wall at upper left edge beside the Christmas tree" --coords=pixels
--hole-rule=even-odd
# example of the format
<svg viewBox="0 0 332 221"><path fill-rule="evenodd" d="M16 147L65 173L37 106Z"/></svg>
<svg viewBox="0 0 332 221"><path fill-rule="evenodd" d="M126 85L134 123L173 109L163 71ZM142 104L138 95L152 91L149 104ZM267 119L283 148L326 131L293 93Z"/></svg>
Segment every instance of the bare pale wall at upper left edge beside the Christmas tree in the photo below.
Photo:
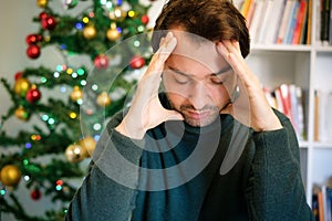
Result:
<svg viewBox="0 0 332 221"><path fill-rule="evenodd" d="M31 22L32 15L39 14L35 1L2 1L0 7L0 77L13 83L14 74L24 66L32 66L25 55L25 36L38 28ZM0 85L0 115L10 106L10 99Z"/></svg>

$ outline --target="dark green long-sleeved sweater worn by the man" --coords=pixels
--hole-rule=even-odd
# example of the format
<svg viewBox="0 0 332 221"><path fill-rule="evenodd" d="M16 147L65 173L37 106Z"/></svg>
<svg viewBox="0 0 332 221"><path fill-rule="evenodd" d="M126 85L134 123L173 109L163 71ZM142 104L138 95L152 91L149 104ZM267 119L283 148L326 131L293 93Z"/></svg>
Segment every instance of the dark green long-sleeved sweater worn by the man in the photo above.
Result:
<svg viewBox="0 0 332 221"><path fill-rule="evenodd" d="M117 115L66 220L313 220L297 137L276 113L283 128L274 131L255 133L220 115L204 128L167 122L142 140L114 130Z"/></svg>

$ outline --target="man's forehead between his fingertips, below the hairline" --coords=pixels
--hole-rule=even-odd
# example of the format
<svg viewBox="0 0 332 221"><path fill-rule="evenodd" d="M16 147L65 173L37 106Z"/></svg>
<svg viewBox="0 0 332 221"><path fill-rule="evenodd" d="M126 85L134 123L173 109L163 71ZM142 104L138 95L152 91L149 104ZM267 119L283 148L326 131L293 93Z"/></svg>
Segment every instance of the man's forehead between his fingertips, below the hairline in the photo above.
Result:
<svg viewBox="0 0 332 221"><path fill-rule="evenodd" d="M199 69L209 73L218 73L228 66L222 55L218 53L216 42L179 30L172 30L172 32L177 39L177 45L167 64L185 69L180 71Z"/></svg>

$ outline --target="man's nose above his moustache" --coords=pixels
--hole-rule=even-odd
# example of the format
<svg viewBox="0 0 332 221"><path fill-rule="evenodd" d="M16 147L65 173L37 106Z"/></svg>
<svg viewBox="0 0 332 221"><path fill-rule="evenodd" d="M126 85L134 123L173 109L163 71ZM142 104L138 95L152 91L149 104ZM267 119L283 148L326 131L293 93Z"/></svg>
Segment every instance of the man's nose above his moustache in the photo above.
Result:
<svg viewBox="0 0 332 221"><path fill-rule="evenodd" d="M195 109L203 109L208 102L208 93L204 83L196 83L189 88L189 102Z"/></svg>

